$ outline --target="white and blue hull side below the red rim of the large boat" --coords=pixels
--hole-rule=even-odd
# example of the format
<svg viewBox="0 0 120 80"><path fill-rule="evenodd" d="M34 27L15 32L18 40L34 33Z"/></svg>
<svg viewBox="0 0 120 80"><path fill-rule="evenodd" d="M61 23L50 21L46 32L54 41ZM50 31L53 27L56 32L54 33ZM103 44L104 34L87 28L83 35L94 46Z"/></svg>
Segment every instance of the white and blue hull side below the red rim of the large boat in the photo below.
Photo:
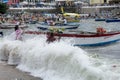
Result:
<svg viewBox="0 0 120 80"><path fill-rule="evenodd" d="M105 37L73 38L73 40L74 46L104 46L119 41L120 34Z"/></svg>

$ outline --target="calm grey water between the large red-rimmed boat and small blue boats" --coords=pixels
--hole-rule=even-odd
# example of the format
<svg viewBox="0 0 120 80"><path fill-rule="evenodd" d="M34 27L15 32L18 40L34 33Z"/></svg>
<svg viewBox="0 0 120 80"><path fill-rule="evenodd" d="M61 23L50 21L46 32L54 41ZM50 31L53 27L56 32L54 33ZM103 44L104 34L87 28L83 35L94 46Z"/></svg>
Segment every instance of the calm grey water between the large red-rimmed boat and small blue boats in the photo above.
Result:
<svg viewBox="0 0 120 80"><path fill-rule="evenodd" d="M120 30L120 22L106 23L105 21L94 21L94 19L81 20L80 30L96 32L97 27L103 27L106 31Z"/></svg>

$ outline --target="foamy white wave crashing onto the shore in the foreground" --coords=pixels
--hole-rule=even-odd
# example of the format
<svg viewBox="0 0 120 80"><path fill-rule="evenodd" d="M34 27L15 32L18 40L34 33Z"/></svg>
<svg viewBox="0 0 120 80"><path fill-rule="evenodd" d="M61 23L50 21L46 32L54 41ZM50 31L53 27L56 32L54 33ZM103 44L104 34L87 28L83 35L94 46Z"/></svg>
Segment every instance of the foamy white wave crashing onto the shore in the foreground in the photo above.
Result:
<svg viewBox="0 0 120 80"><path fill-rule="evenodd" d="M18 64L20 70L44 80L120 80L119 73L107 69L106 64L97 62L81 48L64 41L48 44L45 36L23 42L5 39L0 50L9 64ZM18 62L14 62L16 58Z"/></svg>

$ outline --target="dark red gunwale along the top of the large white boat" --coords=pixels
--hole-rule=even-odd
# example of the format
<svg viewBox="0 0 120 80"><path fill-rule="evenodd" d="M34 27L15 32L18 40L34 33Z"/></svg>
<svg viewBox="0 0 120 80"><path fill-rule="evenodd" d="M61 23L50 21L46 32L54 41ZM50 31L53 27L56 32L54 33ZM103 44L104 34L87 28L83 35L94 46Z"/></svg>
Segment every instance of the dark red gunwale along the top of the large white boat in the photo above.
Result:
<svg viewBox="0 0 120 80"><path fill-rule="evenodd" d="M25 31L26 34L49 34L50 32L39 32L39 31ZM98 33L80 33L80 34L71 34L71 33L54 33L55 36L61 37L76 37L76 38L92 38L92 37L107 37L107 36L114 36L120 34L120 31L112 31L103 34Z"/></svg>

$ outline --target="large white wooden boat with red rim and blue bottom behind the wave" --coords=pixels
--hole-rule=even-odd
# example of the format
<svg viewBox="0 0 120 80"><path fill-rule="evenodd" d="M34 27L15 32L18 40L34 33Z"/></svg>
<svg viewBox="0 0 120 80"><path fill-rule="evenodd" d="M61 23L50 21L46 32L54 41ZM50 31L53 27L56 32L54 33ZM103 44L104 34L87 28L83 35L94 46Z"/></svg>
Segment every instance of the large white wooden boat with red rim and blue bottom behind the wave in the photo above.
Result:
<svg viewBox="0 0 120 80"><path fill-rule="evenodd" d="M26 34L50 34L50 32L37 32L26 31ZM106 33L96 32L66 32L66 33L54 33L55 37L61 37L61 39L71 39L74 42L74 46L104 46L120 40L120 31L111 31Z"/></svg>

